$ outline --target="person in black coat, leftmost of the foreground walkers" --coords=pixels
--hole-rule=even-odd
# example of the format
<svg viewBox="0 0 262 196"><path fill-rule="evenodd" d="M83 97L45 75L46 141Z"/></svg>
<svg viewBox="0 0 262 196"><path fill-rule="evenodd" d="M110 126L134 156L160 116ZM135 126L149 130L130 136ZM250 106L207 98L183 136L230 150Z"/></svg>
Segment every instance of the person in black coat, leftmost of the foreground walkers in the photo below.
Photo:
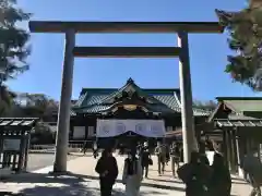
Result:
<svg viewBox="0 0 262 196"><path fill-rule="evenodd" d="M111 196L112 185L118 176L117 160L111 149L105 149L97 161L95 171L99 174L100 196Z"/></svg>

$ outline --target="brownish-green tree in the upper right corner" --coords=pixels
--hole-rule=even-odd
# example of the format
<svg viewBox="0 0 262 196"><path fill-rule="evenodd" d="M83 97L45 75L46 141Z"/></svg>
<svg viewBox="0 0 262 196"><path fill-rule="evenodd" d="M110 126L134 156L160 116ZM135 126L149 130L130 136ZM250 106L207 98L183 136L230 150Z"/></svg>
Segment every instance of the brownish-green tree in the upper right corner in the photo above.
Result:
<svg viewBox="0 0 262 196"><path fill-rule="evenodd" d="M229 33L229 48L236 56L228 56L225 72L235 82L253 90L262 90L262 1L252 0L238 12L216 10L219 23Z"/></svg>

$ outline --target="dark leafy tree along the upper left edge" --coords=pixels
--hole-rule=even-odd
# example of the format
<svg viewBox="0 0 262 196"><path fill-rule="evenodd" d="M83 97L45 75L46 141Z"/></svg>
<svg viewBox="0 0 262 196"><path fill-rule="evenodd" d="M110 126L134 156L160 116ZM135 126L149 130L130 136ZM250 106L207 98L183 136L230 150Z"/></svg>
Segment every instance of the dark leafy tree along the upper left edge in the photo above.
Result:
<svg viewBox="0 0 262 196"><path fill-rule="evenodd" d="M16 0L0 0L0 115L12 102L5 82L28 70L29 34L17 23L28 21L31 14L17 8Z"/></svg>

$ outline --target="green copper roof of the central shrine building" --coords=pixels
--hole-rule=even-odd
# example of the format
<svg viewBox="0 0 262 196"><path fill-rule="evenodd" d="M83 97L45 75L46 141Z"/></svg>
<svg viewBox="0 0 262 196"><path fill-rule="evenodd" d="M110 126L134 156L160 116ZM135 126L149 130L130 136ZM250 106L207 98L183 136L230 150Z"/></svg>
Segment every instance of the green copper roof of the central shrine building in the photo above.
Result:
<svg viewBox="0 0 262 196"><path fill-rule="evenodd" d="M140 88L129 79L121 88L83 88L79 100L73 107L74 113L102 113L112 106L116 97L122 91L136 91L146 98L148 109L153 112L176 113L181 111L180 90ZM194 115L209 115L210 112L193 109Z"/></svg>

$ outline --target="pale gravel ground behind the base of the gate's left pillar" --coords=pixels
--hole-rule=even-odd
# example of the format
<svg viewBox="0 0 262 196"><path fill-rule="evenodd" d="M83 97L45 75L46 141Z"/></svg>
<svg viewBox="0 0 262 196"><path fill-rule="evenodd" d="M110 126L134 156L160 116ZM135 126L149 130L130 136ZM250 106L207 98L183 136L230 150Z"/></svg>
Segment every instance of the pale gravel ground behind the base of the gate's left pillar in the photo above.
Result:
<svg viewBox="0 0 262 196"><path fill-rule="evenodd" d="M68 160L74 159L78 156L69 155ZM52 166L55 154L29 154L27 171L34 171L41 168Z"/></svg>

